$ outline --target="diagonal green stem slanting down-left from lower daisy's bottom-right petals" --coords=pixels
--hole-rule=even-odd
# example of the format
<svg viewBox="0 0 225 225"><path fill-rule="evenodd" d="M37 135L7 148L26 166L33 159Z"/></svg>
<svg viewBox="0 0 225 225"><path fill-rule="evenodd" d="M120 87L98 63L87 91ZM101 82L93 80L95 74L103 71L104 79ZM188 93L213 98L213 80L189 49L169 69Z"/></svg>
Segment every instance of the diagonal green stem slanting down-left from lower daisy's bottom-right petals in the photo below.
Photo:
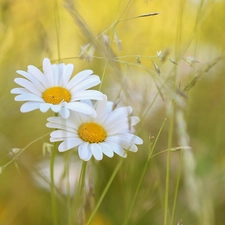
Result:
<svg viewBox="0 0 225 225"><path fill-rule="evenodd" d="M103 199L104 199L104 197L105 197L107 191L109 190L109 187L110 187L110 185L112 184L112 182L113 182L113 180L114 180L114 178L115 178L115 176L116 176L118 170L120 169L120 167L121 167L123 161L124 161L124 159L121 159L121 160L119 161L119 163L117 164L115 170L113 171L113 174L111 175L111 177L110 177L110 179L109 179L107 185L105 186L105 189L104 189L104 191L102 192L102 195L100 196L100 198L99 198L99 200L98 200L98 202L97 202L97 204L96 204L96 206L95 206L95 208L94 208L94 210L93 210L93 212L92 212L92 214L91 214L91 216L90 216L90 218L89 218L89 220L88 220L88 222L87 222L86 225L90 225L90 223L91 223L92 219L94 218L96 212L98 211L98 208L99 208L99 206L101 205L101 203L102 203L102 201L103 201Z"/></svg>

